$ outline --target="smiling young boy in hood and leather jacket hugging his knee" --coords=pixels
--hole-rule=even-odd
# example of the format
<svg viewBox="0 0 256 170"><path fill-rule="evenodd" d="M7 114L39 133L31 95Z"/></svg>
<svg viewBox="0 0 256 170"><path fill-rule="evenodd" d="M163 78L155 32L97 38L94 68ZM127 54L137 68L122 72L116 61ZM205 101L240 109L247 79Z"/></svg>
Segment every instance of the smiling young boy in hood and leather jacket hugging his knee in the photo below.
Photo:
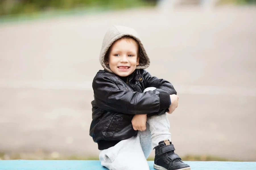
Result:
<svg viewBox="0 0 256 170"><path fill-rule="evenodd" d="M110 170L148 170L155 149L154 168L190 170L174 153L167 114L178 106L177 92L164 79L151 76L150 60L134 29L112 26L100 52L104 70L92 87L90 136L98 143L101 165Z"/></svg>

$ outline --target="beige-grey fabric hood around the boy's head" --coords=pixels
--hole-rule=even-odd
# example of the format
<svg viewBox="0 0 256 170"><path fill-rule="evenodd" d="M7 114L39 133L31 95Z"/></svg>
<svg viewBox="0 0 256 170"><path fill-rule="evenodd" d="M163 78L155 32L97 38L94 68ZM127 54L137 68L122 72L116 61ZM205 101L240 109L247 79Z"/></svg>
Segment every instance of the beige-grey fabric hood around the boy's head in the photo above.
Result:
<svg viewBox="0 0 256 170"><path fill-rule="evenodd" d="M102 67L104 69L106 69L107 71L113 73L110 68L109 65L106 64L106 62L104 61L104 57L108 51L108 48L111 46L111 44L116 41L117 39L120 39L121 37L128 35L133 37L134 39L136 39L139 44L140 44L140 61L139 61L139 65L136 67L136 69L146 69L148 68L149 64L150 64L150 60L148 58L148 55L146 53L146 50L141 42L141 39L139 38L138 33L129 27L125 27L125 26L118 26L118 25L114 25L112 26L110 29L108 29L108 31L106 32L103 42L102 42L102 47L101 47L101 51L100 51L100 64L102 65Z"/></svg>

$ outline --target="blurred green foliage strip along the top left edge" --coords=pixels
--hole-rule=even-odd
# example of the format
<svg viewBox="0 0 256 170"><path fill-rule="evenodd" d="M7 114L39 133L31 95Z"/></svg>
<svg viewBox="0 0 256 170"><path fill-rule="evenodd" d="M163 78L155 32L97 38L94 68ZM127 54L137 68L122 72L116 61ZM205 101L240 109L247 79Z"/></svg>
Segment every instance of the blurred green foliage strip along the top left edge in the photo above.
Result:
<svg viewBox="0 0 256 170"><path fill-rule="evenodd" d="M0 0L0 16L31 14L39 11L88 7L123 9L152 5L145 0Z"/></svg>

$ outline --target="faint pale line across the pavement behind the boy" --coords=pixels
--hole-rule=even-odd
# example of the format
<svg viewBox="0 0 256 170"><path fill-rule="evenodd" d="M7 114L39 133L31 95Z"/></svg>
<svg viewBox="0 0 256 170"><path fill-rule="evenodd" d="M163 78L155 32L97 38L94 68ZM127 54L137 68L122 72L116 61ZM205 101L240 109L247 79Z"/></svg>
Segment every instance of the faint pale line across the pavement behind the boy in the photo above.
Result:
<svg viewBox="0 0 256 170"><path fill-rule="evenodd" d="M21 81L0 80L0 88L37 88L51 90L92 90L92 81ZM242 95L256 96L256 88L238 86L175 85L178 94Z"/></svg>

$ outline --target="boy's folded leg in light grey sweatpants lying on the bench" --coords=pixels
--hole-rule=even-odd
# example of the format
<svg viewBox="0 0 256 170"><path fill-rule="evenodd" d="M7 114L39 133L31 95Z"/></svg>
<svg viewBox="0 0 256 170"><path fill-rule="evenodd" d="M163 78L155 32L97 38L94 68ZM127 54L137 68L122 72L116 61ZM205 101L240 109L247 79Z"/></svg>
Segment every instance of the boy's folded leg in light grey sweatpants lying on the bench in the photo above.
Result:
<svg viewBox="0 0 256 170"><path fill-rule="evenodd" d="M101 165L110 170L149 170L139 134L100 151L99 158Z"/></svg>

